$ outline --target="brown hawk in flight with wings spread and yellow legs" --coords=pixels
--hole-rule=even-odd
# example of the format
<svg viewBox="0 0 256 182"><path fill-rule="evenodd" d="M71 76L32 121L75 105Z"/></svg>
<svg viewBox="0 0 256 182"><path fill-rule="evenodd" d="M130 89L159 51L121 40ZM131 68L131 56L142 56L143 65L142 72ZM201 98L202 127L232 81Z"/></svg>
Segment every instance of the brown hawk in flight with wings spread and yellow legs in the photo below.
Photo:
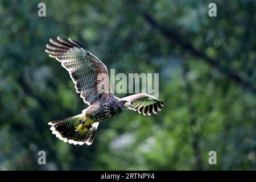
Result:
<svg viewBox="0 0 256 182"><path fill-rule="evenodd" d="M52 134L70 144L92 144L98 123L126 109L156 114L163 102L146 93L124 98L115 97L109 83L108 69L96 56L72 39L49 39L46 52L61 63L72 78L76 92L89 106L82 113L67 119L52 121ZM100 77L105 75L105 77Z"/></svg>

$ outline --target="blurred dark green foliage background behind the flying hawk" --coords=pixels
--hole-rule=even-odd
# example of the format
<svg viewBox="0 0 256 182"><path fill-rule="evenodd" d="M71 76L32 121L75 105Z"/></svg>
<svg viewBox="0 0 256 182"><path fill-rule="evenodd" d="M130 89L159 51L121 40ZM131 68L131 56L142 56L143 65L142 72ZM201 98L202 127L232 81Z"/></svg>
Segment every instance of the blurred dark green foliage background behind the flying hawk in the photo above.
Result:
<svg viewBox="0 0 256 182"><path fill-rule="evenodd" d="M256 1L214 1L217 17L210 2L1 1L0 169L255 170ZM55 138L47 123L86 107L44 52L57 36L115 73L159 73L162 111L102 122L91 146Z"/></svg>

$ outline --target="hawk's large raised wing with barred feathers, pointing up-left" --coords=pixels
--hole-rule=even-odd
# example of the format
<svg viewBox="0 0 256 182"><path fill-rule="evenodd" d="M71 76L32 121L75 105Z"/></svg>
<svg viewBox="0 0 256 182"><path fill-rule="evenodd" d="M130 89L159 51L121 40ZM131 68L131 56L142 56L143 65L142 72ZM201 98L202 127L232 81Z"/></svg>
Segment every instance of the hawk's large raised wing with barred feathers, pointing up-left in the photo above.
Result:
<svg viewBox="0 0 256 182"><path fill-rule="evenodd" d="M100 97L112 96L108 69L96 56L72 39L49 39L46 52L60 61L75 83L76 92L84 102L91 104Z"/></svg>

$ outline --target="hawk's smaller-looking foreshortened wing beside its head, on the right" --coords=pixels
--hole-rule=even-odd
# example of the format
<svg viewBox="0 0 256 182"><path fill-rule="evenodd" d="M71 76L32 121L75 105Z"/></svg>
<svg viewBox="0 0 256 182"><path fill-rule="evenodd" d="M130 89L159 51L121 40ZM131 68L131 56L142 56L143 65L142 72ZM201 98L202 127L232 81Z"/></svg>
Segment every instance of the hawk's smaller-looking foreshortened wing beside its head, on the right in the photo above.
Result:
<svg viewBox="0 0 256 182"><path fill-rule="evenodd" d="M146 93L134 94L131 96L123 97L122 100L128 100L131 102L131 107L134 111L138 110L138 113L143 113L144 115L151 115L152 113L158 113L164 105L162 101L159 101L154 96L150 96Z"/></svg>

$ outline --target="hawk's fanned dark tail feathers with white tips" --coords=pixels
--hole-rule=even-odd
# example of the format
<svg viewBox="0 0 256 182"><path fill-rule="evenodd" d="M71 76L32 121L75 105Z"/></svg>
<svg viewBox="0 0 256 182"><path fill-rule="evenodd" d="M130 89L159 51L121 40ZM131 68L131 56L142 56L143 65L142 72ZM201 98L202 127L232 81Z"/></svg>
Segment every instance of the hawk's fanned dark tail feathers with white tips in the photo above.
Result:
<svg viewBox="0 0 256 182"><path fill-rule="evenodd" d="M94 135L96 133L98 122L93 123L88 131L84 133L79 133L76 130L76 126L80 124L80 120L83 114L76 115L71 118L61 119L58 121L49 122L51 125L52 134L55 134L57 138L63 140L63 142L68 142L70 144L92 144Z"/></svg>

